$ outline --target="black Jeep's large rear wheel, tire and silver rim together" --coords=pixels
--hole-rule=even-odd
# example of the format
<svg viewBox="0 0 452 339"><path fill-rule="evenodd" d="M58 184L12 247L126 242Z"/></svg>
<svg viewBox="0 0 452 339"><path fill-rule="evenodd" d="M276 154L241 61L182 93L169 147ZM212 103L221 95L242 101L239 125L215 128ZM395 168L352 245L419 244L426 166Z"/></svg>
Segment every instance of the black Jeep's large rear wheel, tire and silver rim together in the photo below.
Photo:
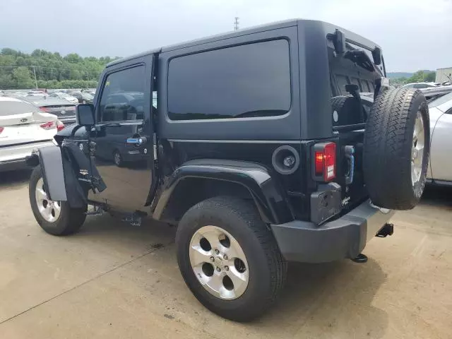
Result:
<svg viewBox="0 0 452 339"><path fill-rule="evenodd" d="M216 197L190 208L176 234L177 261L205 307L234 321L269 309L285 283L287 265L254 206Z"/></svg>

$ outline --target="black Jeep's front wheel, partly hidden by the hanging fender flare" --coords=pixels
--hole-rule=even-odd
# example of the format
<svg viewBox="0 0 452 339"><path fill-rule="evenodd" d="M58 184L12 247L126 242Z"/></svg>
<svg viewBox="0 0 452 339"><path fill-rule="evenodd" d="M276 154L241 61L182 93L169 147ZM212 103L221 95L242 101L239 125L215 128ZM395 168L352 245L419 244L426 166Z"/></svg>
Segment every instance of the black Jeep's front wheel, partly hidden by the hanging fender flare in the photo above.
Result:
<svg viewBox="0 0 452 339"><path fill-rule="evenodd" d="M85 222L85 208L71 208L67 201L52 201L42 179L41 167L33 169L28 186L30 205L37 223L53 235L76 232Z"/></svg>

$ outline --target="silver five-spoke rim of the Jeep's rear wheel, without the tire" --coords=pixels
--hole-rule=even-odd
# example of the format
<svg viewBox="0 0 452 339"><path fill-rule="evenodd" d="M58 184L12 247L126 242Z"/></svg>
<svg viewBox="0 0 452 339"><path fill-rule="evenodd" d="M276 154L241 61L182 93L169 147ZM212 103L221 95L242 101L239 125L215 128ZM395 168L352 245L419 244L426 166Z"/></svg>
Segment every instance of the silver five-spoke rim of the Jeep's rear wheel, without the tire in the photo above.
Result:
<svg viewBox="0 0 452 339"><path fill-rule="evenodd" d="M199 283L220 299L237 299L249 283L249 268L239 242L217 226L204 226L193 234L190 264Z"/></svg>

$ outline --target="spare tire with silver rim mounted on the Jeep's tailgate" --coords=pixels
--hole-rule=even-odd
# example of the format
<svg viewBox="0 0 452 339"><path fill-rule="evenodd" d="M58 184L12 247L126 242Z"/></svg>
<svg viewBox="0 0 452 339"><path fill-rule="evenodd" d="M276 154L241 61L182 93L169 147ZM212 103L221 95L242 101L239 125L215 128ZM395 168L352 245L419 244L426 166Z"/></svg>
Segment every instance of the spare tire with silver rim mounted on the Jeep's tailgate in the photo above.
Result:
<svg viewBox="0 0 452 339"><path fill-rule="evenodd" d="M379 94L364 132L363 172L372 203L414 208L424 191L429 153L429 108L420 90Z"/></svg>

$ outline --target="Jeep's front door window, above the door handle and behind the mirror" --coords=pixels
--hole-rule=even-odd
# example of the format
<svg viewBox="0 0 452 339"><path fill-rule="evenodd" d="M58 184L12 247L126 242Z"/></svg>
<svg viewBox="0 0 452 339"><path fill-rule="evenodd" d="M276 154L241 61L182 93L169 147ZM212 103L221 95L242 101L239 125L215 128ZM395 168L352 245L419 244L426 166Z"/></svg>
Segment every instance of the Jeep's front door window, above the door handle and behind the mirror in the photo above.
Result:
<svg viewBox="0 0 452 339"><path fill-rule="evenodd" d="M100 98L100 121L144 119L145 84L144 66L109 74Z"/></svg>

